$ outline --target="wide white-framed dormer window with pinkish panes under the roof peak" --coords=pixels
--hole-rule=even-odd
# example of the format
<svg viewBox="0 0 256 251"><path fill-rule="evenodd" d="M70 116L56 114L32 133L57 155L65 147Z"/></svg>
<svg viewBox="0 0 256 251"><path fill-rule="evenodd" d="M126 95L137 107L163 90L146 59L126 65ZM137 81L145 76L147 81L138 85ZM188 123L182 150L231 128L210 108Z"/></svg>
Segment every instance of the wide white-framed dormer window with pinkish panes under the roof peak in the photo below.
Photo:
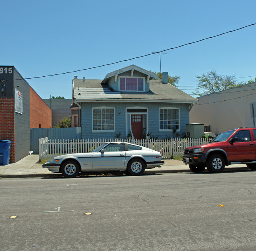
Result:
<svg viewBox="0 0 256 251"><path fill-rule="evenodd" d="M143 91L144 78L119 78L119 90Z"/></svg>

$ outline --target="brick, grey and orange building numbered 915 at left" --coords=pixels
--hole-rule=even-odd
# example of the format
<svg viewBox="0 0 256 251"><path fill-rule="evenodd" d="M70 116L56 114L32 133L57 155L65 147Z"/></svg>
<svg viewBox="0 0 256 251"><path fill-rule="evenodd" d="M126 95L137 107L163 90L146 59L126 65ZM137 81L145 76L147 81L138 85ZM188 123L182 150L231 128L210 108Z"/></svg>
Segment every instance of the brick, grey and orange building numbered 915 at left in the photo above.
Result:
<svg viewBox="0 0 256 251"><path fill-rule="evenodd" d="M52 127L52 111L14 66L0 66L0 139L11 140L10 162L26 157L30 128Z"/></svg>

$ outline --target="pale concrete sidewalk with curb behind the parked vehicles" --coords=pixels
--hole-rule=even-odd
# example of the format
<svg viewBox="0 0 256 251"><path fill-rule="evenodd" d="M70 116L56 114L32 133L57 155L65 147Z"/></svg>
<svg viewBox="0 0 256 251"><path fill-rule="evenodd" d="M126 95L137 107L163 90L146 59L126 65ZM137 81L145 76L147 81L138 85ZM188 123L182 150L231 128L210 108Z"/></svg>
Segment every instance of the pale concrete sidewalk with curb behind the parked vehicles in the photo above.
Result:
<svg viewBox="0 0 256 251"><path fill-rule="evenodd" d="M178 173L178 172L191 172L188 165L182 161L174 159L163 160L165 164L161 167L153 169L146 169L145 173ZM39 162L39 155L32 154L24 157L20 161L0 166L0 177L13 178L13 177L61 177L61 173L52 173L47 168L43 168ZM235 164L226 166L226 171L234 170L249 170L245 164ZM208 172L207 169L204 172Z"/></svg>

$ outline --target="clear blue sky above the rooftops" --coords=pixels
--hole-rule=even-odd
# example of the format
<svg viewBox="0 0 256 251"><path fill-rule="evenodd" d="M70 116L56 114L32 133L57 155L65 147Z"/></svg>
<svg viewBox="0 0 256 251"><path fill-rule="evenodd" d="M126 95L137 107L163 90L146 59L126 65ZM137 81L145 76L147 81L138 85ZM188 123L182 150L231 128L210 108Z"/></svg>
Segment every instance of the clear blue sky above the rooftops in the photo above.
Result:
<svg viewBox="0 0 256 251"><path fill-rule="evenodd" d="M114 63L256 23L255 10L255 0L2 1L0 65L33 78ZM180 76L188 94L210 69L247 82L256 76L255 41L256 25L170 50L161 55L161 71ZM27 81L43 99L71 99L74 75L104 79L132 64L160 71L159 55L150 55Z"/></svg>

